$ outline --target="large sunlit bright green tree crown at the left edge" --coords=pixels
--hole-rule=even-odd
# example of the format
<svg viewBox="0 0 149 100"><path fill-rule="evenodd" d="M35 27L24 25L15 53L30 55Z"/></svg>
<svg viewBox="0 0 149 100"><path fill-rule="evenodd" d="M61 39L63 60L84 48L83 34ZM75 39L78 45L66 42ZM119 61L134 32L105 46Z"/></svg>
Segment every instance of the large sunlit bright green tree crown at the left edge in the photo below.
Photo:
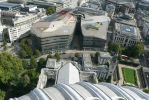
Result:
<svg viewBox="0 0 149 100"><path fill-rule="evenodd" d="M10 84L22 70L22 61L8 53L0 53L0 82Z"/></svg>

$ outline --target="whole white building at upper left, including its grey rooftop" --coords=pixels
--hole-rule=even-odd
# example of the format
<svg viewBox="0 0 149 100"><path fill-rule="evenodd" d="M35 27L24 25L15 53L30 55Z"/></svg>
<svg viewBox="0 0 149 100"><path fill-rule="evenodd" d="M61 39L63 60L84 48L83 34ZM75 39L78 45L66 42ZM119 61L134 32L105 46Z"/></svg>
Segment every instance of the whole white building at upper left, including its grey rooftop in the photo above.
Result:
<svg viewBox="0 0 149 100"><path fill-rule="evenodd" d="M2 11L2 24L7 27L10 42L17 40L30 30L32 24L45 17L44 9L36 9L34 12Z"/></svg>

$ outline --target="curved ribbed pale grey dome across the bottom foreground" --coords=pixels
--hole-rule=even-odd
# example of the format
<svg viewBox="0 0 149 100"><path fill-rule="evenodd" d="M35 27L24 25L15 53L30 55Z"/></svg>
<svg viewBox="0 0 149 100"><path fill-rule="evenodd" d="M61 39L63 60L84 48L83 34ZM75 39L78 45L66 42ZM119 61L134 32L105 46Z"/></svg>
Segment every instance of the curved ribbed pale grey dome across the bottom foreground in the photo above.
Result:
<svg viewBox="0 0 149 100"><path fill-rule="evenodd" d="M149 94L130 86L110 83L57 84L44 89L35 88L29 94L9 100L148 100Z"/></svg>

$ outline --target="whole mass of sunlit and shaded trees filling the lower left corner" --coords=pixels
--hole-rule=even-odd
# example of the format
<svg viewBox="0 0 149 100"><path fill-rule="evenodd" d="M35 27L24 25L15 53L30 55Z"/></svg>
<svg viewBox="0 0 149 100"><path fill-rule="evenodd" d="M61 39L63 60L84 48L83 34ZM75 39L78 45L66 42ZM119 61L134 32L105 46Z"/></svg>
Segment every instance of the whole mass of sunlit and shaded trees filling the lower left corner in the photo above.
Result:
<svg viewBox="0 0 149 100"><path fill-rule="evenodd" d="M0 100L21 96L36 87L40 72L36 67L28 69L26 65L25 60L0 53Z"/></svg>

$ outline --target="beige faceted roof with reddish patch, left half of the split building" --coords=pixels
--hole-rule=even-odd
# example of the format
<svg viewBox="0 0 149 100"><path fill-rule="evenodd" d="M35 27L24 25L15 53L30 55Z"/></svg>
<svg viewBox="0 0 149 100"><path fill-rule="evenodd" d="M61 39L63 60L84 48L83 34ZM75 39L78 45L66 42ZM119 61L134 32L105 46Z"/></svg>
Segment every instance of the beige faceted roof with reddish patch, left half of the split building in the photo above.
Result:
<svg viewBox="0 0 149 100"><path fill-rule="evenodd" d="M33 24L31 32L40 38L72 35L75 25L76 17L72 14L72 10L64 9Z"/></svg>

